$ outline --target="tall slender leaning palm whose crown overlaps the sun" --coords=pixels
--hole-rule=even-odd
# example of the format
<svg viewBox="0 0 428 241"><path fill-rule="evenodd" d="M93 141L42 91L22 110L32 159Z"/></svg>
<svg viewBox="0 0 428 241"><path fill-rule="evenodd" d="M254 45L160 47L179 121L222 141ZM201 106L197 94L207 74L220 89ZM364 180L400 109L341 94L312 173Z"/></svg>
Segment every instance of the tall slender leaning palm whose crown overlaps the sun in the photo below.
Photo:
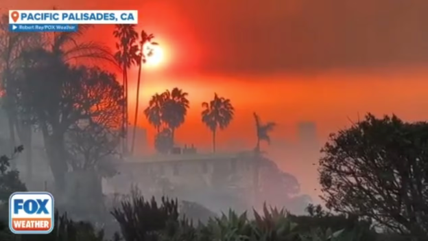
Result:
<svg viewBox="0 0 428 241"><path fill-rule="evenodd" d="M150 48L150 45L157 45L153 43L152 39L154 38L153 34L147 34L144 30L140 34L140 43L139 43L139 74L136 82L136 99L135 99L135 113L134 113L134 130L132 130L132 144L131 144L131 154L134 153L134 144L135 144L135 133L136 133L136 122L138 121L138 109L139 109L139 100L140 100L140 82L141 82L141 68L146 62L147 58L153 54L153 49Z"/></svg>

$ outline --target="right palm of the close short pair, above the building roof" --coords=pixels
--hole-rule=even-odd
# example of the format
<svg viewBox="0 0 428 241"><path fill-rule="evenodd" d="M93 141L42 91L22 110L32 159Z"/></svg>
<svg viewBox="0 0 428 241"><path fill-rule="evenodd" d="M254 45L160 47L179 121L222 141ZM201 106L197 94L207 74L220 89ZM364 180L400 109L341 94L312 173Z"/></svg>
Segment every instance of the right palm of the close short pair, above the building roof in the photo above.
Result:
<svg viewBox="0 0 428 241"><path fill-rule="evenodd" d="M174 88L171 91L165 91L164 103L162 106L162 121L171 129L171 138L174 141L175 131L185 122L189 100L186 92L182 89Z"/></svg>

